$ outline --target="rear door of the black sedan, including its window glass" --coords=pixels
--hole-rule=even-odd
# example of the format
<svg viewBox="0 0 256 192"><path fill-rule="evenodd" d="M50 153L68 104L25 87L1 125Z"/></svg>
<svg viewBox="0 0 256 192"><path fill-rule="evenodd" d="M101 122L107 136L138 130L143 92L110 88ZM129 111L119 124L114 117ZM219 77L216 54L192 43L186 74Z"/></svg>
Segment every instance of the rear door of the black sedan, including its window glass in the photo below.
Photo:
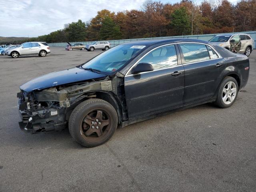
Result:
<svg viewBox="0 0 256 192"><path fill-rule="evenodd" d="M180 43L185 70L184 105L214 96L224 73L225 64L211 46L199 43Z"/></svg>

